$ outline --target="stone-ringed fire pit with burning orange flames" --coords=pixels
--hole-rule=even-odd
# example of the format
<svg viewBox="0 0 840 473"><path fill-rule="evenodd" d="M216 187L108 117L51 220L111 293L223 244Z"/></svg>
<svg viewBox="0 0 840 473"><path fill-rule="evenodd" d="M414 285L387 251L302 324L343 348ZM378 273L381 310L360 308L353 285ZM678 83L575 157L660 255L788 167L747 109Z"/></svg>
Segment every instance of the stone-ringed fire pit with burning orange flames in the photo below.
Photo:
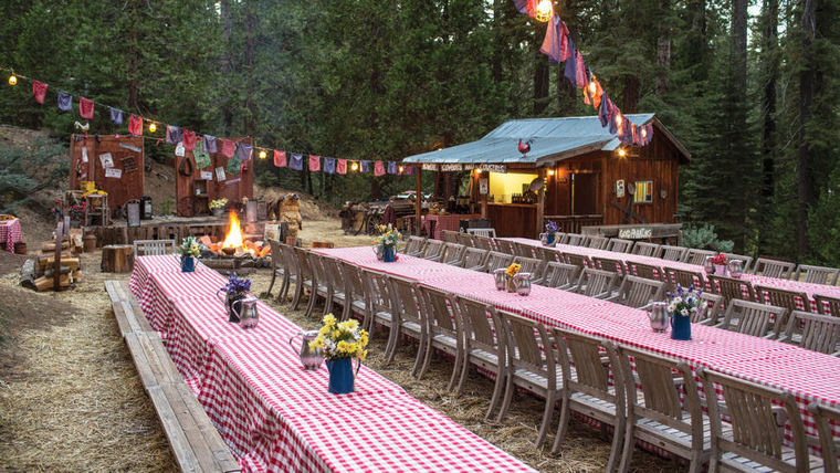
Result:
<svg viewBox="0 0 840 473"><path fill-rule="evenodd" d="M230 212L230 230L221 243L209 236L199 239L208 251L202 252L201 261L216 270L239 270L241 267L271 267L271 246L269 242L252 242L244 239L237 212Z"/></svg>

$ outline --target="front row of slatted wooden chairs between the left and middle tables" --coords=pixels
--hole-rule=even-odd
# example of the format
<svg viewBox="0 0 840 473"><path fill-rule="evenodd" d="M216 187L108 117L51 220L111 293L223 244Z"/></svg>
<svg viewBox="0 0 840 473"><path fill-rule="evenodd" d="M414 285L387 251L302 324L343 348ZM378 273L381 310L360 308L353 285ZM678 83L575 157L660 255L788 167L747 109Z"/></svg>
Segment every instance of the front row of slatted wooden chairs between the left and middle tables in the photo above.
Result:
<svg viewBox="0 0 840 473"><path fill-rule="evenodd" d="M578 412L613 427L609 471L628 470L636 440L653 442L689 459L692 471L706 462L715 465L712 470L723 463L808 471L808 466L821 462L809 456L804 446L807 439L790 393L701 369L697 375L705 392L714 392L713 383L718 385L731 403L718 403L713 397L707 404L710 414L704 416L697 387L685 364L588 335L559 328L547 330L537 322L479 301L300 248L272 243L273 251L275 245L277 254L287 256L284 262L290 263L280 274L312 291L307 314L313 302L323 298L324 313L338 303L344 305L342 318L358 316L367 329L387 327L387 361L393 359L402 335L407 335L418 340L412 369L418 378L427 372L434 351L454 357L450 390L460 391L473 367L495 375L486 419L498 409L495 418L503 420L519 388L544 397L537 445L547 435L559 400L560 420L553 451L563 443L570 413ZM295 290L295 308L302 294ZM784 414L779 416L780 409L774 402L784 406ZM733 412L733 403L738 403L737 413ZM820 404L810 410L820 430L823 452L831 452L826 465L834 464L836 469L831 462L837 452L828 419L840 421L840 411ZM721 413L727 413L732 424L724 423ZM794 432L794 449L784 445L780 437L780 425L786 421Z"/></svg>

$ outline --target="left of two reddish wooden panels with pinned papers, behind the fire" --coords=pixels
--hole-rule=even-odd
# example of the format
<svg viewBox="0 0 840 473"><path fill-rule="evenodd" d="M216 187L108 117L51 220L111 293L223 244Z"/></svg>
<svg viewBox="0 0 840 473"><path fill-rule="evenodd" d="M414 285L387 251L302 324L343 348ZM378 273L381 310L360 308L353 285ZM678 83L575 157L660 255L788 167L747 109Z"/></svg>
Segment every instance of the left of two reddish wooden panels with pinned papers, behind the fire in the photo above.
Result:
<svg viewBox="0 0 840 473"><path fill-rule="evenodd" d="M86 161L85 161L86 159ZM107 171L103 161L113 164ZM119 177L114 177L118 171ZM92 180L108 193L107 206L118 209L143 196L143 137L116 135L72 135L70 138L70 189ZM107 223L105 223L107 224Z"/></svg>

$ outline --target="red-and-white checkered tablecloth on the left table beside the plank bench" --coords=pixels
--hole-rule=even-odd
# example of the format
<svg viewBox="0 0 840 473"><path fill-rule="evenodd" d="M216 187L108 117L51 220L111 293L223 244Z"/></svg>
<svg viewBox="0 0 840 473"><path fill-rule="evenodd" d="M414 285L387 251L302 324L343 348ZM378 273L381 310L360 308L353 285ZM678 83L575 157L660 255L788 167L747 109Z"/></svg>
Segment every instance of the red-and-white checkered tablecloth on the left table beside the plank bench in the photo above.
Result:
<svg viewBox="0 0 840 473"><path fill-rule="evenodd" d="M330 395L326 367L303 370L288 344L300 327L262 302L255 329L229 324L220 286L147 271L138 298L243 470L532 471L367 367L355 392Z"/></svg>

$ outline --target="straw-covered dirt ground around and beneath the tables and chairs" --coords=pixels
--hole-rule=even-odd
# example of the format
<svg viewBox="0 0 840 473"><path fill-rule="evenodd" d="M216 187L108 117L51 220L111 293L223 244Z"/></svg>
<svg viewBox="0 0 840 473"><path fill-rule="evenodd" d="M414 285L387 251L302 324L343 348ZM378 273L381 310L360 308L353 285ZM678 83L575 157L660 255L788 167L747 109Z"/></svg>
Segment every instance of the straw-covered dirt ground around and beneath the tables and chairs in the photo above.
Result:
<svg viewBox="0 0 840 473"><path fill-rule="evenodd" d="M305 221L304 244L369 245L369 236L345 236L337 220ZM99 253L82 255L84 278L72 291L34 293L20 287L22 259L0 252L0 470L3 471L172 471L171 454L155 411L109 311ZM256 270L253 292L267 290L270 272ZM274 290L276 293L276 287ZM286 301L263 298L302 327L317 328ZM319 314L322 307L317 307ZM537 470L602 471L609 443L579 421L571 423L561 451L550 454L533 440L544 403L519 393L507 418L485 422L492 383L473 374L461 395L447 392L450 362L438 358L422 380L410 376L416 348L406 344L386 366L382 333L371 339L368 366L409 393ZM553 421L554 435L558 414ZM632 470L680 470L672 461L640 451Z"/></svg>

